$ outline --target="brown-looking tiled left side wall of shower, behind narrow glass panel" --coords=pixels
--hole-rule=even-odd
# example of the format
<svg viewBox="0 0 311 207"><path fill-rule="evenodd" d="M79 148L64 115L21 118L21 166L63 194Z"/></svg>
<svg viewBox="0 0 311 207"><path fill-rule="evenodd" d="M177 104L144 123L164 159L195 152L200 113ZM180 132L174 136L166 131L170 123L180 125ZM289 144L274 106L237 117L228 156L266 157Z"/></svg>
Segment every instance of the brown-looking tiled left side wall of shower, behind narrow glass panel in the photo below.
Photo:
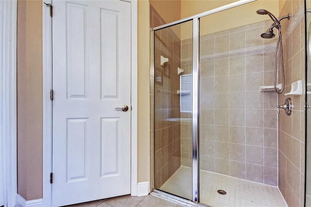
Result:
<svg viewBox="0 0 311 207"><path fill-rule="evenodd" d="M153 28L162 24L165 24L164 20L150 6L150 26ZM171 29L155 32L154 53L155 74L160 74L156 77L161 80L154 82L151 73L150 102L154 104L151 107L150 134L154 138L155 188L160 188L181 164L180 107L176 93L179 89L177 67L180 67L180 40ZM161 55L169 58L165 66L160 65ZM172 121L172 118L178 120Z"/></svg>

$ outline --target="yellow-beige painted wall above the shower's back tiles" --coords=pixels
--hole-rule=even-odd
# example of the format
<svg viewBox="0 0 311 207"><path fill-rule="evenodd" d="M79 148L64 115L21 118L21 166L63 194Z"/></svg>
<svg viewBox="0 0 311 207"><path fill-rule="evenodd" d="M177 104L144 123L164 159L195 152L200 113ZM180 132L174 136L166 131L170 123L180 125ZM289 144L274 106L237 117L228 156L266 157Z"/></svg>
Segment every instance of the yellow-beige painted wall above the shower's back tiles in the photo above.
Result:
<svg viewBox="0 0 311 207"><path fill-rule="evenodd" d="M195 14L208 11L236 0L182 0L181 1L181 18L193 16ZM210 16L202 17L200 20L200 34L205 35L214 32L220 32L243 25L252 24L255 22L270 19L267 15L257 15L256 11L266 9L275 16L278 16L278 1L277 0L257 0L231 8ZM234 20L233 20L234 19ZM271 24L273 21L271 20ZM204 25L204 26L202 26ZM181 38L189 39L191 31L181 29Z"/></svg>

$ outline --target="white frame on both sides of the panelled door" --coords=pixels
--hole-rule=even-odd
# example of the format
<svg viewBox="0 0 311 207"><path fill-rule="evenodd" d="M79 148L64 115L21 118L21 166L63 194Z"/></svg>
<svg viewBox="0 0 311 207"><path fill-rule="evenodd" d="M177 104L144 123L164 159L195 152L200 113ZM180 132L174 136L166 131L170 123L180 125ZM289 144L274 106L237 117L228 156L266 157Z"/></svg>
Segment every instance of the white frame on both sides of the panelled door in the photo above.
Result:
<svg viewBox="0 0 311 207"><path fill-rule="evenodd" d="M131 195L137 196L137 88L138 88L138 61L137 61L137 0L123 0L131 3ZM42 0L52 4L52 0ZM52 18L50 8L42 3L42 51L43 51L43 206L52 206Z"/></svg>

